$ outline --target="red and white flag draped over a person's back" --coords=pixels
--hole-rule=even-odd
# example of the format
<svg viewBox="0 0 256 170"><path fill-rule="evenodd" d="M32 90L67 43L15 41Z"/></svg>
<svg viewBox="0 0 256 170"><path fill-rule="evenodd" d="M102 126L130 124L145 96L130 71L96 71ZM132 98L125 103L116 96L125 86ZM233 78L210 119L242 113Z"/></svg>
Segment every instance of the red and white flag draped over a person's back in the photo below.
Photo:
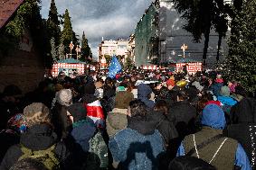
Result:
<svg viewBox="0 0 256 170"><path fill-rule="evenodd" d="M104 113L100 101L97 100L93 103L88 103L85 107L87 110L87 117L89 117L97 127L104 128Z"/></svg>

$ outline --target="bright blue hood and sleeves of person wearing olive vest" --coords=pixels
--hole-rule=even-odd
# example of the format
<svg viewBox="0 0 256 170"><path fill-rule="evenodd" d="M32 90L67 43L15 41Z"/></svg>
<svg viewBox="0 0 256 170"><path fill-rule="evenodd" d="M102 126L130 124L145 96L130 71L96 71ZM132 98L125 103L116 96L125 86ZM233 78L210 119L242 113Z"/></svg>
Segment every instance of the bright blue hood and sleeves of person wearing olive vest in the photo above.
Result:
<svg viewBox="0 0 256 170"><path fill-rule="evenodd" d="M211 127L214 130L223 130L226 125L224 112L216 104L208 104L204 107L201 122L204 126ZM183 142L178 148L176 156L185 156ZM238 144L236 149L234 165L240 166L242 170L251 170L250 161L240 144Z"/></svg>

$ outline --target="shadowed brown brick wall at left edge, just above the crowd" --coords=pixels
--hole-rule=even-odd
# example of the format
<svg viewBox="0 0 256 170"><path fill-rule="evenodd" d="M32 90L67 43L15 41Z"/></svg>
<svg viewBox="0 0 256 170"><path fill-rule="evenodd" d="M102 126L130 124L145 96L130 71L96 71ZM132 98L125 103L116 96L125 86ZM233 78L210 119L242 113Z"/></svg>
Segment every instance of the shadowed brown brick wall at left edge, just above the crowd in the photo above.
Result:
<svg viewBox="0 0 256 170"><path fill-rule="evenodd" d="M0 92L5 85L18 85L24 93L33 89L43 80L43 60L34 50L15 50L7 56L0 54Z"/></svg>

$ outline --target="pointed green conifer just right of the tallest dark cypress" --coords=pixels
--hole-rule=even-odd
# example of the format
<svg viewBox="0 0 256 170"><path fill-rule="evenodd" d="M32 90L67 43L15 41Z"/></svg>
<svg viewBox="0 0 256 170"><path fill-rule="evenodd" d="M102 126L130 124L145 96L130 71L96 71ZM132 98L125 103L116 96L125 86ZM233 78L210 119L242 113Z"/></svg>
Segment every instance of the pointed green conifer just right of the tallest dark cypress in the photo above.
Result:
<svg viewBox="0 0 256 170"><path fill-rule="evenodd" d="M73 31L71 26L71 17L69 11L66 9L64 14L64 23L61 42L64 45L65 53L70 53L69 45L73 40Z"/></svg>

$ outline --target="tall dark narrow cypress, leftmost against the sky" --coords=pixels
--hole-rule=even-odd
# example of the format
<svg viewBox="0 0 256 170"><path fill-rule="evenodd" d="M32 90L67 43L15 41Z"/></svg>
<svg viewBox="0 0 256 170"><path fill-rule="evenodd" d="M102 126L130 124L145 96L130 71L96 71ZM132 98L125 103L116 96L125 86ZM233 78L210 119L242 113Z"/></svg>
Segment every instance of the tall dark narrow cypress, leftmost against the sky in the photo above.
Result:
<svg viewBox="0 0 256 170"><path fill-rule="evenodd" d="M60 36L61 36L61 27L60 27L60 21L58 18L57 7L54 0L52 0L51 6L50 6L47 26L48 26L48 35L50 40L53 37L55 40L55 44L59 45Z"/></svg>

